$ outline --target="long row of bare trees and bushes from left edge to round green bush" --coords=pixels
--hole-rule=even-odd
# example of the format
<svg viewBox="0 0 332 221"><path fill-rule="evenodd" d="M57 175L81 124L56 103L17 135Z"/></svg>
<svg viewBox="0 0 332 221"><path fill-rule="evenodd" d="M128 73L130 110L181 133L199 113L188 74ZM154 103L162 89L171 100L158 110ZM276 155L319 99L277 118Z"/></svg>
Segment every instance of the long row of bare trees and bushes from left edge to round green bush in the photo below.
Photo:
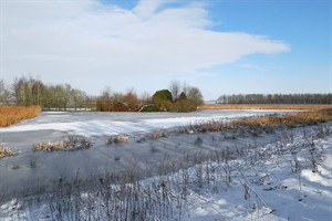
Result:
<svg viewBox="0 0 332 221"><path fill-rule="evenodd" d="M165 97L163 93L168 94ZM0 104L31 106L45 110L100 110L100 112L190 112L203 104L198 87L173 81L169 90L157 91L153 96L141 96L134 90L126 93L105 87L98 96L87 95L70 84L45 84L32 76L21 76L8 85L0 80Z"/></svg>

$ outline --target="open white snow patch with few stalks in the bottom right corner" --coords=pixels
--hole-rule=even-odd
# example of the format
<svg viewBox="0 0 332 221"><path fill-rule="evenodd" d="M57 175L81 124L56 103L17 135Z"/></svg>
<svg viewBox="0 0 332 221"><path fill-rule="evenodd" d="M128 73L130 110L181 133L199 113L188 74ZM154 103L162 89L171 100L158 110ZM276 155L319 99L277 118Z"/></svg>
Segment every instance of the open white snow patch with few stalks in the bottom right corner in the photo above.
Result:
<svg viewBox="0 0 332 221"><path fill-rule="evenodd" d="M186 221L260 220L260 221L331 221L332 220L332 139L323 144L324 161L319 172L302 169L290 171L290 159L272 157L251 172L269 175L271 182L257 185L259 177L248 179L249 199L245 199L242 181L214 194L193 193L190 217ZM249 172L248 172L249 173ZM262 177L261 177L262 178ZM264 204L262 207L262 204ZM261 208L258 208L261 207Z"/></svg>

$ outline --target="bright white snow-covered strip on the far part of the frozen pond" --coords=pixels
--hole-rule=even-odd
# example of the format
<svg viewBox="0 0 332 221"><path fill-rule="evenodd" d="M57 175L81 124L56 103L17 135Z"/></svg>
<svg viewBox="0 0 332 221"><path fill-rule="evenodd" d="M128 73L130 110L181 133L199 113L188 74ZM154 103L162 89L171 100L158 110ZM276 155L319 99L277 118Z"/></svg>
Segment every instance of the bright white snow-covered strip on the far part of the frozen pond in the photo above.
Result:
<svg viewBox="0 0 332 221"><path fill-rule="evenodd" d="M19 125L0 128L0 133L59 130L84 137L141 134L158 129L231 118L286 113L284 110L200 110L194 113L71 113L49 112Z"/></svg>

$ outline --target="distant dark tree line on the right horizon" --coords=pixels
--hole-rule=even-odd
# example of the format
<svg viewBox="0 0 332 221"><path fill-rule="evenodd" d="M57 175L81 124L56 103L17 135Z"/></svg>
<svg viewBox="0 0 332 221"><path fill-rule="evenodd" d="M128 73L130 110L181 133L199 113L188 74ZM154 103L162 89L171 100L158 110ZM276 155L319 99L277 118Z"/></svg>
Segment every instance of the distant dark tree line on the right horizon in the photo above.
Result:
<svg viewBox="0 0 332 221"><path fill-rule="evenodd" d="M332 104L332 94L232 94L221 95L218 104Z"/></svg>

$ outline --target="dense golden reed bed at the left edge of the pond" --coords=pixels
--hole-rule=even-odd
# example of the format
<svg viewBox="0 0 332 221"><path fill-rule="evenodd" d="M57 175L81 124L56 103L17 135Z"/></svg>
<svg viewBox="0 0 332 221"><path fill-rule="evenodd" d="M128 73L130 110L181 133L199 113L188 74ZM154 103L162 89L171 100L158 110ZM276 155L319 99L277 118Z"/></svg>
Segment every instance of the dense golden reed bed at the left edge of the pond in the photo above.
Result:
<svg viewBox="0 0 332 221"><path fill-rule="evenodd" d="M0 106L0 127L8 127L20 120L33 118L40 113L40 106Z"/></svg>

